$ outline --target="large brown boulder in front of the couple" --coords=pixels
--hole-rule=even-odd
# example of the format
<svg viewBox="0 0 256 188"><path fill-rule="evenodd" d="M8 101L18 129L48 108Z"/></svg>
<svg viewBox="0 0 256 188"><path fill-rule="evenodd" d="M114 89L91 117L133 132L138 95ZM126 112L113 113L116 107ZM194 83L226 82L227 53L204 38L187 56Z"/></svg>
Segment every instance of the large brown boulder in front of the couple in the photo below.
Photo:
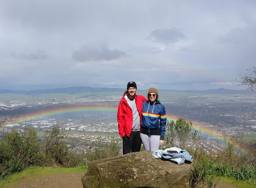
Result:
<svg viewBox="0 0 256 188"><path fill-rule="evenodd" d="M150 151L91 161L84 188L189 188L191 165L155 159Z"/></svg>

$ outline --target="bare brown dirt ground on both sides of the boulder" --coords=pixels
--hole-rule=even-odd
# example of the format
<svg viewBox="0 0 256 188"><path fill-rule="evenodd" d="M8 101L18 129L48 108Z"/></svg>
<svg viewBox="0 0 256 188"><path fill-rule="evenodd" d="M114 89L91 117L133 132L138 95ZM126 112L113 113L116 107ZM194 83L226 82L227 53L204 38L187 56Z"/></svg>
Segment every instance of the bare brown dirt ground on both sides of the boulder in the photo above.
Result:
<svg viewBox="0 0 256 188"><path fill-rule="evenodd" d="M17 184L4 188L83 188L84 172L29 175L21 177ZM216 188L239 188L235 184L219 181Z"/></svg>

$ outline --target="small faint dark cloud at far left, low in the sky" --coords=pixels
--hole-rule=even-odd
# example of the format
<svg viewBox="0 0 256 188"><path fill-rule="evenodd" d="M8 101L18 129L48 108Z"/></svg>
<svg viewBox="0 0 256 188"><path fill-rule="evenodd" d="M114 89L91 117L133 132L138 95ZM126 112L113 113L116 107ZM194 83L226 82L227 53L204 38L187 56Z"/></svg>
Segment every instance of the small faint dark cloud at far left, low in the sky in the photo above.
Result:
<svg viewBox="0 0 256 188"><path fill-rule="evenodd" d="M40 59L47 59L48 56L44 51L38 50L35 53L30 54L18 54L17 52L12 52L10 55L12 58L15 59L27 59L27 60L40 60Z"/></svg>

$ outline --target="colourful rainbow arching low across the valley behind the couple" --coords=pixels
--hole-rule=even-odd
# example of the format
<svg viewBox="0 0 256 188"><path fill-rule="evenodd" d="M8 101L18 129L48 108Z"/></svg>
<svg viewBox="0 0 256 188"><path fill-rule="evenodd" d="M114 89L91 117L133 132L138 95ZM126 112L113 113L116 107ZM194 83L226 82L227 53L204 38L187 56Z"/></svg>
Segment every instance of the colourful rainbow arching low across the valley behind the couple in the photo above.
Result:
<svg viewBox="0 0 256 188"><path fill-rule="evenodd" d="M113 105L74 105L74 106L66 106L66 107L55 107L55 108L50 108L50 109L45 109L45 110L40 110L38 112L34 112L31 114L26 115L26 117L16 120L15 122L12 122L11 124L20 124L20 123L25 123L25 122L30 122L30 121L37 121L40 119L56 119L56 117L63 117L63 116L72 116L74 114L93 114L93 113L99 113L103 112L106 114L116 114L117 113L117 106ZM179 117L173 116L172 114L167 114L167 120L168 121L175 121ZM190 121L187 120L186 121ZM10 122L9 122L10 124ZM204 125L197 125L193 124L193 127L195 130L197 130L201 137L208 137L208 138L213 138L212 141L215 142L215 144L222 145L222 146L227 146L228 141L226 141L226 138L223 135L216 135L212 132L212 130ZM236 143L232 143L234 147L236 148L237 151L241 151L244 153L247 153L245 149L242 148L242 146Z"/></svg>

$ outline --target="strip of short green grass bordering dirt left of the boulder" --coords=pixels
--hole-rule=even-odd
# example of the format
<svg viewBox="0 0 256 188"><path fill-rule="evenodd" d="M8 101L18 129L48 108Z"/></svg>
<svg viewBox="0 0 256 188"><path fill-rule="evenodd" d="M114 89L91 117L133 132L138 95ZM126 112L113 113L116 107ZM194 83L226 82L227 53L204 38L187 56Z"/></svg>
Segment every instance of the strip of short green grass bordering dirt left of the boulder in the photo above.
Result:
<svg viewBox="0 0 256 188"><path fill-rule="evenodd" d="M76 168L60 168L60 167L52 168L52 167L32 166L26 170L23 170L20 173L13 174L9 177L4 178L4 180L0 181L0 188L15 184L18 182L18 180L21 177L25 177L33 174L44 175L44 174L55 174L55 173L61 173L61 172L66 172L66 173L84 172L85 173L86 171L87 171L87 166L78 166Z"/></svg>

